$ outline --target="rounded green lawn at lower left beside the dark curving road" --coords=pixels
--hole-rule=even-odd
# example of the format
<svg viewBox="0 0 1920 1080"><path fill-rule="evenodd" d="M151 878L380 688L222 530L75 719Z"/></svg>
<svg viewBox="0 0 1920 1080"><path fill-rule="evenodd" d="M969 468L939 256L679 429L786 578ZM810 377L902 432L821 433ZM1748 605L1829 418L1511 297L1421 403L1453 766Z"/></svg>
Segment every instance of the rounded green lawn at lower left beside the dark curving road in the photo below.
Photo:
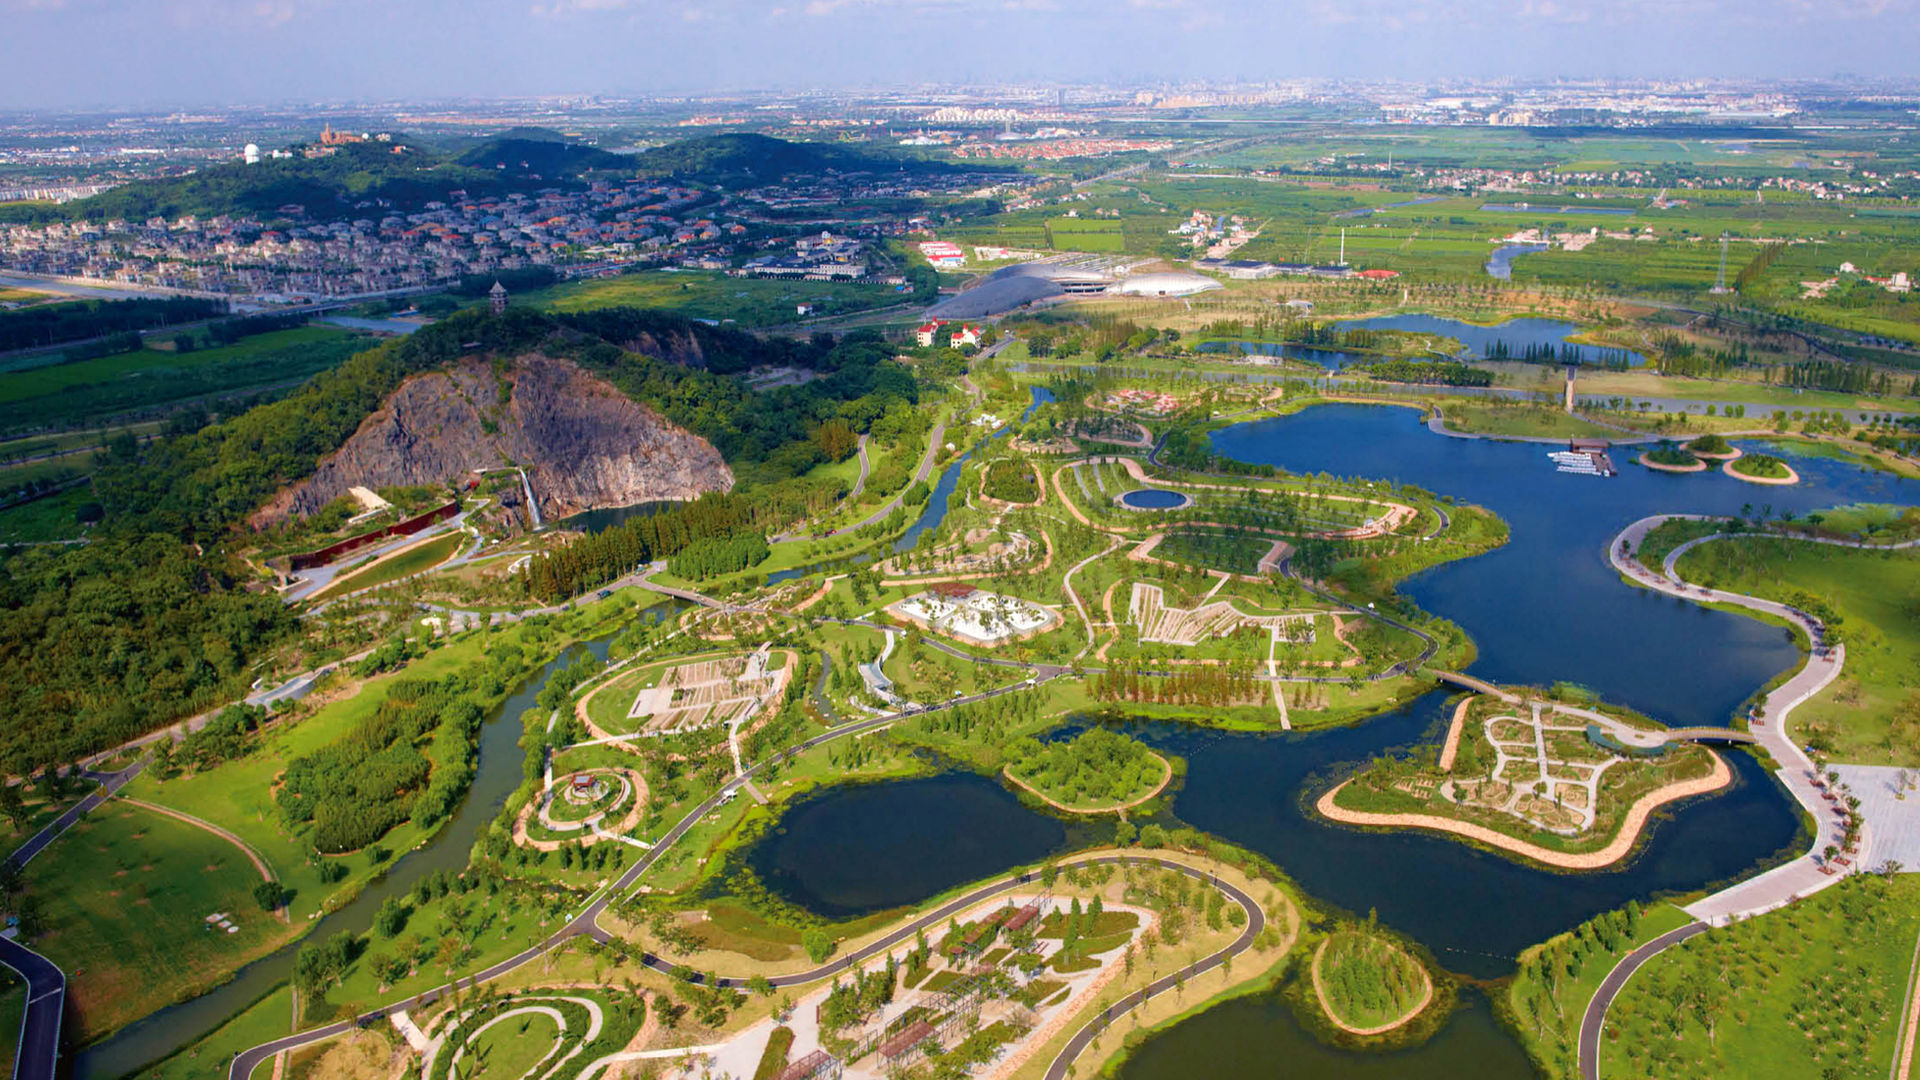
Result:
<svg viewBox="0 0 1920 1080"><path fill-rule="evenodd" d="M33 944L67 972L79 1036L200 994L294 936L253 903L257 884L232 844L140 807L109 801L75 824L35 859L27 888L46 913ZM211 926L213 913L238 932Z"/></svg>

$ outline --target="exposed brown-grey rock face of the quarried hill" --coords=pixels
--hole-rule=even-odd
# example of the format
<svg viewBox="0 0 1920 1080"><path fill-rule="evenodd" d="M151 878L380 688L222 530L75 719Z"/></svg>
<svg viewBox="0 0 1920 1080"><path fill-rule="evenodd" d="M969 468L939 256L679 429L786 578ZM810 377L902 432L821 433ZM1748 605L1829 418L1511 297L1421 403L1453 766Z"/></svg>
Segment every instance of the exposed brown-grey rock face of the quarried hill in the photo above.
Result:
<svg viewBox="0 0 1920 1080"><path fill-rule="evenodd" d="M353 484L440 484L509 461L526 467L547 521L733 486L705 438L570 359L524 356L495 375L486 359L468 357L407 379L346 446L252 523L265 528L313 513Z"/></svg>

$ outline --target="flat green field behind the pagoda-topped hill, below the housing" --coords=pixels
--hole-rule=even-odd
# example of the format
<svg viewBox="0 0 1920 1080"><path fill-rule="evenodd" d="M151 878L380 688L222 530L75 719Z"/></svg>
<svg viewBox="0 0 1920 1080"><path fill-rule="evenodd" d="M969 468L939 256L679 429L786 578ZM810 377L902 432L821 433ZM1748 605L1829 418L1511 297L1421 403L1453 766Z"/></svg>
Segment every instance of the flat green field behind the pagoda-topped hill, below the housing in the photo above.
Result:
<svg viewBox="0 0 1920 1080"><path fill-rule="evenodd" d="M845 315L910 300L885 284L726 277L718 271L643 271L572 281L528 292L518 302L547 311L662 307L693 319L732 319L741 327L799 323L801 304Z"/></svg>

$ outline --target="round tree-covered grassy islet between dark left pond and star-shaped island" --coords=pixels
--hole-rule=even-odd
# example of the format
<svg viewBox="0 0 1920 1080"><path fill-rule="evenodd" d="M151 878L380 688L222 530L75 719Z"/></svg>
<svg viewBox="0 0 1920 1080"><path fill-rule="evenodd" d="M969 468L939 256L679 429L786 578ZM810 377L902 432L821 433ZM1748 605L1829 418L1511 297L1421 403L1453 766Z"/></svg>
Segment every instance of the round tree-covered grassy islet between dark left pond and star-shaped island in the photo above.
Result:
<svg viewBox="0 0 1920 1080"><path fill-rule="evenodd" d="M1114 813L1152 799L1173 780L1173 763L1146 744L1087 728L1073 740L1020 738L1006 751L1006 778L1068 813Z"/></svg>

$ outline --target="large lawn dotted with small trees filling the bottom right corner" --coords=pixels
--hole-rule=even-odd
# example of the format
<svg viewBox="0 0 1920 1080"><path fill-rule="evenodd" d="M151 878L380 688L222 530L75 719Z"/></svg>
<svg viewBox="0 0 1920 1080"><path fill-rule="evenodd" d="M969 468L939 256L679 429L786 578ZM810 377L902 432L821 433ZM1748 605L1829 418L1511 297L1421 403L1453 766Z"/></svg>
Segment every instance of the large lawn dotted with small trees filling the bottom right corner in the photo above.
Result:
<svg viewBox="0 0 1920 1080"><path fill-rule="evenodd" d="M1603 1076L1885 1076L1920 880L1851 876L1651 959L1607 1013Z"/></svg>

